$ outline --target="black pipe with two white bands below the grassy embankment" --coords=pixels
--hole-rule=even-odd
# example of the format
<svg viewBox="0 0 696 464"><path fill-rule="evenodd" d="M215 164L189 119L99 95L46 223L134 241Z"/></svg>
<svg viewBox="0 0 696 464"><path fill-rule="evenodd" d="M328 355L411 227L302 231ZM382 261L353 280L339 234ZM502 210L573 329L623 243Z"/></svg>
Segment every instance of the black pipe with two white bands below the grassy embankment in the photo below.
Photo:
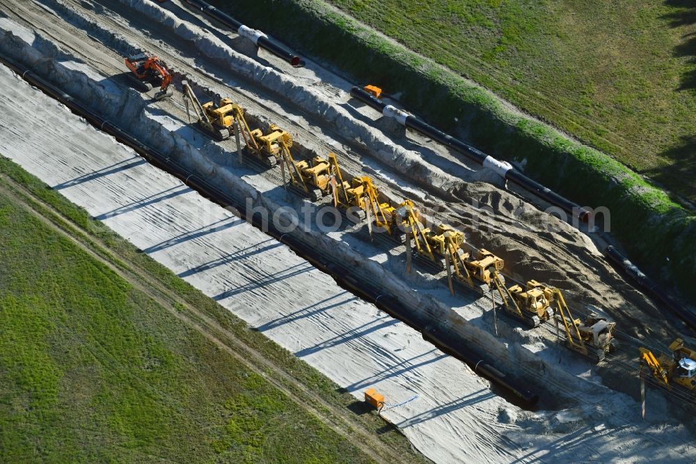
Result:
<svg viewBox="0 0 696 464"><path fill-rule="evenodd" d="M501 177L515 183L516 185L519 185L524 190L535 194L539 198L548 201L548 203L558 206L570 215L577 216L581 221L587 222L590 219L591 213L589 210L587 210L587 208L579 206L577 203L574 203L569 199L560 196L556 192L549 190L537 181L528 178L525 176L525 174L512 167L512 165L509 163L496 160L495 158L486 155L482 151L477 150L473 146L467 145L463 141L455 139L451 135L445 134L445 132L436 129L432 125L420 121L420 119L416 118L415 116L411 116L410 114L406 113L406 111L397 109L392 105L387 105L378 98L374 98L373 95L367 93L362 88L353 87L350 90L350 94L351 97L355 98L356 100L360 100L361 102L370 105L370 107L377 109L381 112L381 114L395 118L401 125L431 137L441 144L452 148L452 150L466 156L470 161L493 169L493 171L496 171L496 173L498 173Z"/></svg>

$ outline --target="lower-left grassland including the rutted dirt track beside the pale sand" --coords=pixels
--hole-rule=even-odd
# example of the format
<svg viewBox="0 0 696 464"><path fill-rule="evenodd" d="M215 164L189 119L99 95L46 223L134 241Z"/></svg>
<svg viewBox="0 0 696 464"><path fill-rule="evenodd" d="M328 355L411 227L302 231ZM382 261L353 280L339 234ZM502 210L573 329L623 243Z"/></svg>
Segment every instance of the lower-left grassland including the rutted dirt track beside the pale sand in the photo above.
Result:
<svg viewBox="0 0 696 464"><path fill-rule="evenodd" d="M82 247L0 194L0 462L370 461L341 435L383 461L429 462L362 401L0 156L2 189ZM170 308L84 249L165 291Z"/></svg>

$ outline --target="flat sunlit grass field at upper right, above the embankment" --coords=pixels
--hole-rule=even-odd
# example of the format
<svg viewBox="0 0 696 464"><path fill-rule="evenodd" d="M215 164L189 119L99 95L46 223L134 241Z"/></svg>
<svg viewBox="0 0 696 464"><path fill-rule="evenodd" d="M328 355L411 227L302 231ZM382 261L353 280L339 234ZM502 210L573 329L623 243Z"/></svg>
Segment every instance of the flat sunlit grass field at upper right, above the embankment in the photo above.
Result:
<svg viewBox="0 0 696 464"><path fill-rule="evenodd" d="M695 3L329 1L696 201Z"/></svg>

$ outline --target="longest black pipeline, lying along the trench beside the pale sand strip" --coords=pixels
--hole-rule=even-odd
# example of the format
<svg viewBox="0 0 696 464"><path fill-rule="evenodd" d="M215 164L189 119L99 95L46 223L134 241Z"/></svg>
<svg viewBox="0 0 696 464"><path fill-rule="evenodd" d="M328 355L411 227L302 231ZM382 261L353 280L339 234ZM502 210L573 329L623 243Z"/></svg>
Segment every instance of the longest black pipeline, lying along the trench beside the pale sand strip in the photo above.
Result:
<svg viewBox="0 0 696 464"><path fill-rule="evenodd" d="M235 214L239 215L239 217L247 222L250 222L253 224L253 226L262 230L264 233L271 235L271 237L283 243L283 245L290 247L290 249L292 249L298 256L301 256L309 261L315 266L315 268L331 275L331 277L333 277L333 279L340 286L342 286L342 288L354 293L356 296L365 301L374 302L375 306L390 314L390 316L404 321L404 323L410 325L418 331L422 331L422 323L413 316L413 314L417 314L417 311L408 311L406 308L404 308L404 305L397 300L396 297L391 295L383 295L381 288L379 288L379 286L376 284L370 284L370 282L365 281L365 279L357 281L351 276L351 274L346 272L345 268L343 268L338 261L333 261L333 259L329 256L322 256L322 254L318 254L312 247L299 240L299 238L296 238L288 233L281 233L273 224L264 224L265 221L262 221L260 217L247 217L244 214L245 206L242 201L234 199L220 190L217 190L214 186L207 183L203 178L196 176L196 174L190 173L180 165L173 162L164 153L161 153L141 143L138 141L138 139L120 129L120 127L117 125L111 123L110 121L106 121L94 111L82 105L78 100L56 88L56 86L53 86L41 77L34 75L30 70L22 68L22 66L17 65L12 60L6 59L6 57L3 56L0 56L0 62L15 71L18 75L21 75L24 80L29 82L29 84L32 86L39 88L47 95L70 108L75 114L86 118L86 120L90 124L97 127L97 129L100 129L107 134L111 134L116 138L116 140L120 141L120 143L136 150L137 153L142 155L151 164L154 164L160 169L171 173L173 176L176 176L182 180L184 184L191 187L193 190L196 190L206 198L218 203L224 208L235 208ZM532 394L521 387L516 387L514 382L509 380L505 374L501 373L490 364L487 364L487 362L482 361L481 357L473 355L473 352L465 348L461 341L457 341L457 337L454 337L451 334L440 334L436 336L434 334L437 334L438 332L435 330L430 330L429 333L431 334L428 336L425 334L425 332L423 332L423 337L432 341L438 347L443 348L443 350L447 350L449 353L454 355L454 357L457 357L457 359L466 362L466 364L471 366L472 369L478 373L482 374L482 376L489 378L494 385L498 385L498 387L503 389L502 393L507 392L512 394L512 398L517 400L517 402L521 405L532 406L537 403L539 397L536 394ZM450 343L452 343L452 346L450 346Z"/></svg>

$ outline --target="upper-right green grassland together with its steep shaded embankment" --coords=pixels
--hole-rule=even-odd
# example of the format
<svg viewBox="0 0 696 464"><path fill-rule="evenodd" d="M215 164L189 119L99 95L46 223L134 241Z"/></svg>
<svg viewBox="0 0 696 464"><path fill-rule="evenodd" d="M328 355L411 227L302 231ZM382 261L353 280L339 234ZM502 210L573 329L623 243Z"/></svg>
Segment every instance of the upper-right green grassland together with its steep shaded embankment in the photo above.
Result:
<svg viewBox="0 0 696 464"><path fill-rule="evenodd" d="M492 88L672 192L696 200L693 7L647 1L216 1L239 20L399 94L407 109L583 206L606 206L611 230L653 277L696 297L696 216L596 148L507 107ZM430 56L429 59L425 56ZM443 68L446 65L456 72ZM458 122L454 122L454 118Z"/></svg>

